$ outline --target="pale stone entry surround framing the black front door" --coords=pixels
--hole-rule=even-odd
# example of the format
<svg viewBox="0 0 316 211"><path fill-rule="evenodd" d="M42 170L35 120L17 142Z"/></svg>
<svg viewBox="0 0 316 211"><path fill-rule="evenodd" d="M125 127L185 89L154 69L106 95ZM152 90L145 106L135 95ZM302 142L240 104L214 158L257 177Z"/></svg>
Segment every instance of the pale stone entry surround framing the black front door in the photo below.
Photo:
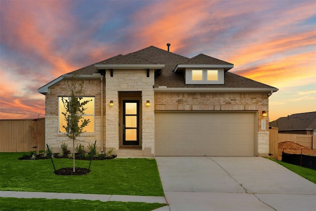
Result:
<svg viewBox="0 0 316 211"><path fill-rule="evenodd" d="M147 77L147 70L124 69L113 70L111 77L110 70L106 71L106 96L105 128L106 128L106 148L119 148L119 91L142 91L142 149L155 152L155 113L154 113L154 70L150 70L150 77ZM110 100L114 105L110 107ZM146 106L146 101L151 102L151 106Z"/></svg>

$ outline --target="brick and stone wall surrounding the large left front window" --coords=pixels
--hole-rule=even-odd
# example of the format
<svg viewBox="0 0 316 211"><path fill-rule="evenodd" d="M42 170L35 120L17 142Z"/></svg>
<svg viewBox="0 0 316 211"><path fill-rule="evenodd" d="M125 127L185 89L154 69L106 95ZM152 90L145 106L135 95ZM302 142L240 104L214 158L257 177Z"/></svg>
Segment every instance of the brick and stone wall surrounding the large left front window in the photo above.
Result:
<svg viewBox="0 0 316 211"><path fill-rule="evenodd" d="M87 146L97 140L97 150L101 149L101 80L100 79L82 79L84 93L82 96L95 97L95 132L82 133L78 139L82 145ZM49 88L49 93L45 95L45 143L50 145L54 152L61 151L61 143L66 142L68 149L72 149L72 141L65 134L58 132L58 97L68 96L70 94L68 83L69 79L64 79ZM103 81L105 84L105 81ZM105 85L103 86L105 94ZM105 100L105 99L104 99ZM104 102L105 103L105 102ZM76 145L76 144L75 144Z"/></svg>

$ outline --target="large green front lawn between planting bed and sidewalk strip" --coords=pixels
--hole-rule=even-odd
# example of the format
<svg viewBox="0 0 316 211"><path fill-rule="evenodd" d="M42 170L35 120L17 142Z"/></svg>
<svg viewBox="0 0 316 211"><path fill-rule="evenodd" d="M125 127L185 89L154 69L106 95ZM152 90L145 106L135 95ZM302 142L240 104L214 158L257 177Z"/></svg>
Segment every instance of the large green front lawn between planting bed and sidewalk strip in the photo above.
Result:
<svg viewBox="0 0 316 211"><path fill-rule="evenodd" d="M155 159L92 161L82 176L58 176L50 159L18 160L25 153L0 153L0 190L109 195L164 196ZM56 169L72 167L71 159L54 159ZM76 160L88 168L89 161Z"/></svg>

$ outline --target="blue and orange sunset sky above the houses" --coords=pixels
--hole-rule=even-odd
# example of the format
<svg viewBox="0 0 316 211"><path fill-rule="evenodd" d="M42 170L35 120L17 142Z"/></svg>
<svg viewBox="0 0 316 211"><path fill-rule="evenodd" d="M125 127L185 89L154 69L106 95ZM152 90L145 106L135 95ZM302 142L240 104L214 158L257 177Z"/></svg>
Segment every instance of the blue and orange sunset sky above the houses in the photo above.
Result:
<svg viewBox="0 0 316 211"><path fill-rule="evenodd" d="M166 43L277 87L271 121L316 111L315 0L0 0L0 119L44 117L39 87Z"/></svg>

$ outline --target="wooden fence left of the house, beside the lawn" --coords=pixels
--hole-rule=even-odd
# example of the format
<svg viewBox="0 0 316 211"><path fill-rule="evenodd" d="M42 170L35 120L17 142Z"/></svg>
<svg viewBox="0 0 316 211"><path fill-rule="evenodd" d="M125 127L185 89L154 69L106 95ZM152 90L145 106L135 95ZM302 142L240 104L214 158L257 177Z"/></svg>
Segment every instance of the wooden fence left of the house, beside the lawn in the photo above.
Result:
<svg viewBox="0 0 316 211"><path fill-rule="evenodd" d="M30 127L37 129L40 144L32 137ZM30 152L45 149L45 119L0 120L0 152Z"/></svg>

